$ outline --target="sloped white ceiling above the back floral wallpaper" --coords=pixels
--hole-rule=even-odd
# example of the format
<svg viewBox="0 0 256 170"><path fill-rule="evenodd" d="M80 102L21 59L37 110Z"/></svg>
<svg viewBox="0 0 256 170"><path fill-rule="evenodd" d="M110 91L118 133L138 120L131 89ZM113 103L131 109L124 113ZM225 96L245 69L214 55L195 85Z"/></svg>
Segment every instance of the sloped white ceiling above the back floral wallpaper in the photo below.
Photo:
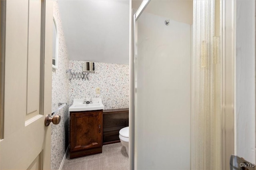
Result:
<svg viewBox="0 0 256 170"><path fill-rule="evenodd" d="M129 0L58 0L70 60L129 64Z"/></svg>

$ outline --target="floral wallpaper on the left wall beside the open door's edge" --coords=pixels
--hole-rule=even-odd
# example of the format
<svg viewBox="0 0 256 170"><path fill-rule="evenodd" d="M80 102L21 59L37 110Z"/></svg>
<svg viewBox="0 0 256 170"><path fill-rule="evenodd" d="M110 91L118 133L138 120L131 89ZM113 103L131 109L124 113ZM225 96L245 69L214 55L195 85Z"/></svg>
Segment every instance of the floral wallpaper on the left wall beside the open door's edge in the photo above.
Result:
<svg viewBox="0 0 256 170"><path fill-rule="evenodd" d="M66 70L69 67L69 57L66 47L66 41L62 30L60 20L60 12L58 2L54 0L54 19L58 28L58 69L52 69L52 111L58 108L58 103L67 103L56 115L60 115L61 120L58 125L52 126L52 155L51 169L57 170L68 147L68 128L69 128L69 113L68 113L68 78Z"/></svg>

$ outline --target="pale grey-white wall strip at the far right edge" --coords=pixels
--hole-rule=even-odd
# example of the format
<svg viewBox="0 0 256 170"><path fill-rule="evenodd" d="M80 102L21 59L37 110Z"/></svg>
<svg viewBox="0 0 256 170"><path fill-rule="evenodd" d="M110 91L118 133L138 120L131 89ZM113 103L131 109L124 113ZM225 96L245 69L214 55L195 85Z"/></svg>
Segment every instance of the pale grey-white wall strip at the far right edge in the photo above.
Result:
<svg viewBox="0 0 256 170"><path fill-rule="evenodd" d="M255 1L236 12L236 155L255 163Z"/></svg>

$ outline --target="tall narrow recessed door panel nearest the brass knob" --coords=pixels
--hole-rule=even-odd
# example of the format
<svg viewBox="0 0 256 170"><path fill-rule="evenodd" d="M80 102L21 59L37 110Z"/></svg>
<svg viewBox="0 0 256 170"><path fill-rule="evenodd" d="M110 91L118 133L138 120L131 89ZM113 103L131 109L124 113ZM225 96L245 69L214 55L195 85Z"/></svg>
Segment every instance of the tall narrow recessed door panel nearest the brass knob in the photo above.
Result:
<svg viewBox="0 0 256 170"><path fill-rule="evenodd" d="M29 1L27 120L40 113L41 8L40 1Z"/></svg>

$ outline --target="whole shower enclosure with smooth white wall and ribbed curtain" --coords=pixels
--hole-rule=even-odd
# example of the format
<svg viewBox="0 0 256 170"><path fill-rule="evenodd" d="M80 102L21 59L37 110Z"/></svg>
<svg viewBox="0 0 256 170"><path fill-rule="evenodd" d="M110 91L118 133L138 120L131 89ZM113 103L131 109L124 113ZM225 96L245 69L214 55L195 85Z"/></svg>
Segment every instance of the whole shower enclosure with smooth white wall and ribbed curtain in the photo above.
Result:
<svg viewBox="0 0 256 170"><path fill-rule="evenodd" d="M228 167L234 50L225 3L144 0L132 10L131 169Z"/></svg>

